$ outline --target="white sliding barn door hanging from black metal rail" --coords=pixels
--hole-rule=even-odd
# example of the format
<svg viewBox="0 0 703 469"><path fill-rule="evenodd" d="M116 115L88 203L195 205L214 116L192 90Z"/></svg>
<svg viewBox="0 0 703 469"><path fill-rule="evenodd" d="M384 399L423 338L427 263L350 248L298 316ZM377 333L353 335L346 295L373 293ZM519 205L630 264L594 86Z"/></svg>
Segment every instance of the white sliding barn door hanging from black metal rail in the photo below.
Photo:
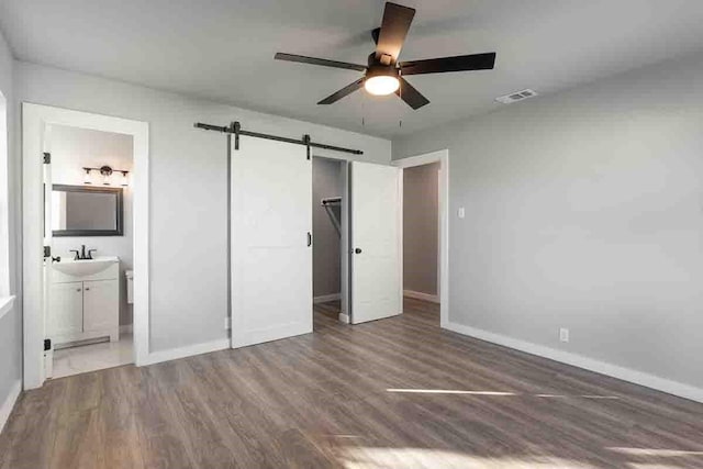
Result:
<svg viewBox="0 0 703 469"><path fill-rule="evenodd" d="M302 145L232 148L232 347L312 332L312 163Z"/></svg>

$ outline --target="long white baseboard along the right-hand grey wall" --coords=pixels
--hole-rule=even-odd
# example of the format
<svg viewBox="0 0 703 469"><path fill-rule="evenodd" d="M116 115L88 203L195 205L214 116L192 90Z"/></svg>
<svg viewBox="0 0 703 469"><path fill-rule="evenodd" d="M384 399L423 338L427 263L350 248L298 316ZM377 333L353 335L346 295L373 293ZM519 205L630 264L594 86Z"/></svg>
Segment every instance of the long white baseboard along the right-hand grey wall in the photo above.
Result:
<svg viewBox="0 0 703 469"><path fill-rule="evenodd" d="M651 388L657 391L667 392L669 394L678 395L679 398L703 402L703 389L695 388L690 384L683 384L666 378L659 378L654 375L632 370L629 368L620 367L616 365L607 364L605 361L599 361L592 358L583 357L581 355L571 354L569 351L557 350L544 345L537 345L517 338L512 338L479 328L465 326L462 324L448 322L445 327L459 334L480 338L481 340L502 345L509 348L514 348L516 350L537 355L539 357L549 358L551 360L560 361L562 364L571 365L578 368L583 368L589 371L595 371L596 373L617 378L623 381L633 382L635 384Z"/></svg>

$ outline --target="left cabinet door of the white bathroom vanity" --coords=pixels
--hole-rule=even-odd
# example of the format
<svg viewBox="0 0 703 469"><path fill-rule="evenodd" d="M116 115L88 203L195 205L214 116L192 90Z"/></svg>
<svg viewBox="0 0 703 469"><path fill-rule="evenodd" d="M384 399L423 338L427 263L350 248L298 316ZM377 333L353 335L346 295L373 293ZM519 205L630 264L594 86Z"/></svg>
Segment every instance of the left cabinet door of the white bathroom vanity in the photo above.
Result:
<svg viewBox="0 0 703 469"><path fill-rule="evenodd" d="M83 331L82 282L53 283L48 310L52 336L67 337Z"/></svg>

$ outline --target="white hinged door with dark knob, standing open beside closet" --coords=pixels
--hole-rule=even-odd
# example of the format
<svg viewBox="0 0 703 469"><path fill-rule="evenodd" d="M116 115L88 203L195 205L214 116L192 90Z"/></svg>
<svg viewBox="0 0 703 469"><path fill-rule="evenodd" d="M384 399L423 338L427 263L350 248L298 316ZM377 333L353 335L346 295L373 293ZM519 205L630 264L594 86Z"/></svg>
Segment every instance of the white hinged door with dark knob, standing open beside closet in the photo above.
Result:
<svg viewBox="0 0 703 469"><path fill-rule="evenodd" d="M400 169L350 164L352 322L403 311Z"/></svg>

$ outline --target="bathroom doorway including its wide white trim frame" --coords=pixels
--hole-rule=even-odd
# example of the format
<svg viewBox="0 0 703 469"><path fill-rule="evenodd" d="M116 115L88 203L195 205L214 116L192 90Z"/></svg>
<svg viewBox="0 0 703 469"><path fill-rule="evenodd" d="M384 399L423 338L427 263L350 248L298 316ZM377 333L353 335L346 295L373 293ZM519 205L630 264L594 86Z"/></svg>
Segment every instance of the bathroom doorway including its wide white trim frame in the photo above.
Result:
<svg viewBox="0 0 703 469"><path fill-rule="evenodd" d="M24 388L145 364L148 126L22 111Z"/></svg>

